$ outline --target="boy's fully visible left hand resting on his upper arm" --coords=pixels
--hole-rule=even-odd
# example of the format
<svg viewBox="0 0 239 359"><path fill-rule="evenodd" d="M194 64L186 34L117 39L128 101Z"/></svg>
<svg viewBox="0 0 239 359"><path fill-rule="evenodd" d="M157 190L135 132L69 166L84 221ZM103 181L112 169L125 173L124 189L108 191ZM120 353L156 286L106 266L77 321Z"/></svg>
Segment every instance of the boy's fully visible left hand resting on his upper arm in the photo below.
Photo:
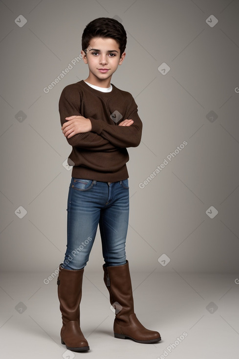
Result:
<svg viewBox="0 0 239 359"><path fill-rule="evenodd" d="M83 116L70 116L65 117L67 122L62 126L62 132L65 137L70 138L77 134L84 134L92 129L91 121L89 118Z"/></svg>

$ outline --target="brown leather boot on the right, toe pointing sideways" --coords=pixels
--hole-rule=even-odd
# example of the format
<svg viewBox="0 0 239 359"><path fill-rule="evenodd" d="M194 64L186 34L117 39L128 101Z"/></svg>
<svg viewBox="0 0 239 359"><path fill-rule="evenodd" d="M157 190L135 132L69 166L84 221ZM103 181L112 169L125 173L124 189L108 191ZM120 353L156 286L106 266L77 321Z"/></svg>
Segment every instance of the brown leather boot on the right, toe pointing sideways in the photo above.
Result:
<svg viewBox="0 0 239 359"><path fill-rule="evenodd" d="M104 282L109 291L110 304L115 308L114 337L130 338L137 343L155 343L160 334L146 329L137 319L133 309L133 295L129 263L122 266L103 266Z"/></svg>

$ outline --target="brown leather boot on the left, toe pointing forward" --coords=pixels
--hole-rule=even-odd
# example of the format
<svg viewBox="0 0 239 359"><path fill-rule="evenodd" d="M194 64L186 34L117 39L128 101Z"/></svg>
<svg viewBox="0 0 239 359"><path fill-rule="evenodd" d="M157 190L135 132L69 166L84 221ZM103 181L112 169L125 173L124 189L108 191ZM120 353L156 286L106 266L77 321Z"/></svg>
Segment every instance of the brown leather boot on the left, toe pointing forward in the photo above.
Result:
<svg viewBox="0 0 239 359"><path fill-rule="evenodd" d="M57 280L63 326L61 341L73 352L89 350L87 339L80 328L80 302L84 269L69 270L59 266Z"/></svg>

